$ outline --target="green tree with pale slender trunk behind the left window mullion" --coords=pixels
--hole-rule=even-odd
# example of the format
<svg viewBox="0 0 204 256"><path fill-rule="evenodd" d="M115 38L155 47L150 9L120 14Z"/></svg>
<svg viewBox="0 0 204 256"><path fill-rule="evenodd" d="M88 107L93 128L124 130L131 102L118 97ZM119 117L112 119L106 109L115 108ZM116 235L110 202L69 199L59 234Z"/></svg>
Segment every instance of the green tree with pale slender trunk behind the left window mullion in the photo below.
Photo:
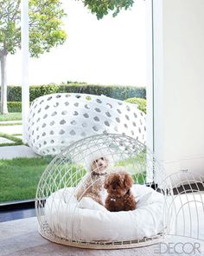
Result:
<svg viewBox="0 0 204 256"><path fill-rule="evenodd" d="M7 114L8 54L21 48L21 0L0 0L0 64L1 113ZM66 16L60 0L29 0L29 51L39 57L51 48L66 41L62 18Z"/></svg>

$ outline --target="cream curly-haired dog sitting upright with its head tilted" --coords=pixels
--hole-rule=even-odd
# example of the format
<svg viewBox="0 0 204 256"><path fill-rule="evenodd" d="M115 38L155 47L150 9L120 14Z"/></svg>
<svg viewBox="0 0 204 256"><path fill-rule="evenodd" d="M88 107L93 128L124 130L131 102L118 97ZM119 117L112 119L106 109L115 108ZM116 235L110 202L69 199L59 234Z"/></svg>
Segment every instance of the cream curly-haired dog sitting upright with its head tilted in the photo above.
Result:
<svg viewBox="0 0 204 256"><path fill-rule="evenodd" d="M105 174L108 167L108 160L105 157L100 157L92 161L91 172L86 174L84 181L76 192L77 200L83 197L91 197L100 205L103 205L101 192L104 189Z"/></svg>

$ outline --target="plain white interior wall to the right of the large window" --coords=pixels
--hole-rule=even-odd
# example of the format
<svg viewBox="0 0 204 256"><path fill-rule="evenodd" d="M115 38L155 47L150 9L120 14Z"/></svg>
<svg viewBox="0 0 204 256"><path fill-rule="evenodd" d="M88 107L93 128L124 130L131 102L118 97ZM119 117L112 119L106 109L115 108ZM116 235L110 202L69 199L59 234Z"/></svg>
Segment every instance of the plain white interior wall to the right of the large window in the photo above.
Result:
<svg viewBox="0 0 204 256"><path fill-rule="evenodd" d="M155 150L204 174L204 1L155 0Z"/></svg>

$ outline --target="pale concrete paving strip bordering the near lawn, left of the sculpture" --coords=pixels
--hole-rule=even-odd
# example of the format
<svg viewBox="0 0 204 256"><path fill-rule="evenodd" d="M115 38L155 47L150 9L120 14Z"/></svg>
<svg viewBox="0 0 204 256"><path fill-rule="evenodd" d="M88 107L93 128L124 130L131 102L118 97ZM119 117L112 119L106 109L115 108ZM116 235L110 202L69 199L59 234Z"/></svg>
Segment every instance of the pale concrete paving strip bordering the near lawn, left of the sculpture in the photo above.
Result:
<svg viewBox="0 0 204 256"><path fill-rule="evenodd" d="M28 146L7 146L0 147L0 159L13 159L16 157L39 157L39 154Z"/></svg>

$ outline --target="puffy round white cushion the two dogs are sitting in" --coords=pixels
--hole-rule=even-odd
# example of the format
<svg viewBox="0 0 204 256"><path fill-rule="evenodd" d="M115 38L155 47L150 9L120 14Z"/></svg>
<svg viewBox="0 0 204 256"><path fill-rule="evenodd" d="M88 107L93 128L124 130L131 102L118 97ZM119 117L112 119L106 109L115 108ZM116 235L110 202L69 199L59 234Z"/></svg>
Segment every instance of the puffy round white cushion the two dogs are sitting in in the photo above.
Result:
<svg viewBox="0 0 204 256"><path fill-rule="evenodd" d="M88 197L79 202L73 191L62 188L46 200L48 226L62 239L139 240L163 233L163 194L150 187L133 185L137 209L128 212L109 212Z"/></svg>

